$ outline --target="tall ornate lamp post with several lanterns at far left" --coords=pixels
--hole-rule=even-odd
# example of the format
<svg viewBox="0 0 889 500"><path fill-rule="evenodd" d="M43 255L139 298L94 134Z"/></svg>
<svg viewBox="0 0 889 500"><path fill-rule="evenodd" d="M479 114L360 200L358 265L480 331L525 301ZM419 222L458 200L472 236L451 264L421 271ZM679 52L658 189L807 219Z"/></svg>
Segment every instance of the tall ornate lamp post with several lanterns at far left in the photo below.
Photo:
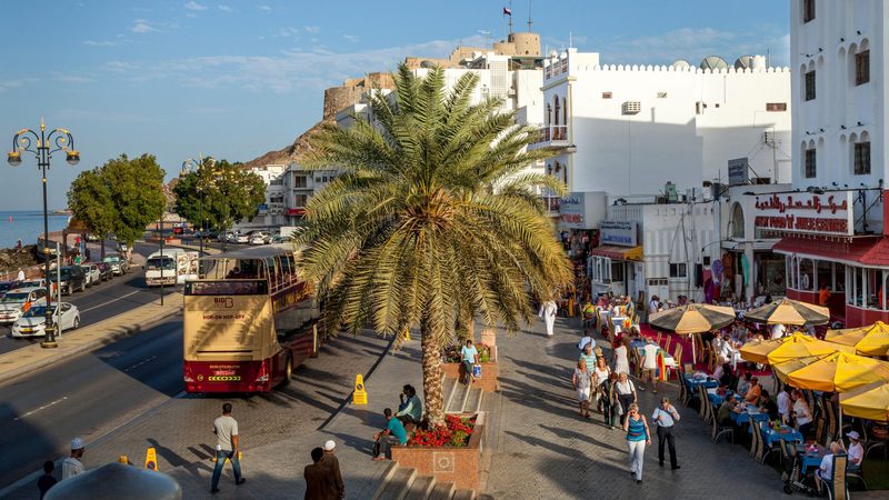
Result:
<svg viewBox="0 0 889 500"><path fill-rule="evenodd" d="M37 142L34 144L34 142ZM52 146L50 146L52 144ZM74 138L66 129L54 129L47 133L47 126L40 119L40 133L31 129L21 129L12 138L12 151L7 156L9 164L18 167L21 164L22 151L30 152L37 158L37 167L40 169L43 182L43 276L47 282L47 316L46 316L46 338L40 342L40 347L50 349L59 347L56 343L56 328L52 324L52 280L49 271L49 211L47 209L47 170L52 154L64 151L66 161L76 166L80 162L80 152L74 149ZM61 281L57 283L61 288ZM60 304L61 307L61 304Z"/></svg>

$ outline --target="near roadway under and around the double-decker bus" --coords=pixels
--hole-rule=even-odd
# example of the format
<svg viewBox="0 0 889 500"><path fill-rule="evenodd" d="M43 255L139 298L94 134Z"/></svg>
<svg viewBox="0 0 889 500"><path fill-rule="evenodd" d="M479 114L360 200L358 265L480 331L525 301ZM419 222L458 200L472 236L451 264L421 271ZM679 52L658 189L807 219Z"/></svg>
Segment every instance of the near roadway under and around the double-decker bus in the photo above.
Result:
<svg viewBox="0 0 889 500"><path fill-rule="evenodd" d="M179 316L0 384L0 489L38 470L44 460L67 454L74 436L87 442L88 468L119 454L142 461L149 446L157 447L161 470L206 460L213 443L208 429L223 401L234 403L249 470L251 448L312 431L329 418L349 394L354 374L366 373L388 341L372 334L332 339L318 358L297 368L290 387L233 399L180 392L181 344ZM30 496L31 489L29 483L6 493L19 498Z"/></svg>

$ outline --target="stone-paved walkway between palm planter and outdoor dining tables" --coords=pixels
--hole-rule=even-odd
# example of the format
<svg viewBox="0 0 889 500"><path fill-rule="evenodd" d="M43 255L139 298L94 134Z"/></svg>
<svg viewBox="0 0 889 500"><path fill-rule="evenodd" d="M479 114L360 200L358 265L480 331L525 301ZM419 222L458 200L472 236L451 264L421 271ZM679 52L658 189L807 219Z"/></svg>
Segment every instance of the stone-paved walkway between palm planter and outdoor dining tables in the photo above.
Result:
<svg viewBox="0 0 889 500"><path fill-rule="evenodd" d="M776 470L757 463L741 446L710 442L710 427L697 411L677 403L682 420L675 428L681 469L658 467L657 437L646 448L643 483L628 473L622 430L609 430L600 413L592 420L577 412L571 370L581 333L577 319L557 320L547 338L542 323L532 331L498 341L500 418L486 492L495 498L780 498ZM606 356L608 342L598 338ZM677 396L671 383L652 394L639 392L649 419L662 396ZM653 432L653 427L652 427Z"/></svg>

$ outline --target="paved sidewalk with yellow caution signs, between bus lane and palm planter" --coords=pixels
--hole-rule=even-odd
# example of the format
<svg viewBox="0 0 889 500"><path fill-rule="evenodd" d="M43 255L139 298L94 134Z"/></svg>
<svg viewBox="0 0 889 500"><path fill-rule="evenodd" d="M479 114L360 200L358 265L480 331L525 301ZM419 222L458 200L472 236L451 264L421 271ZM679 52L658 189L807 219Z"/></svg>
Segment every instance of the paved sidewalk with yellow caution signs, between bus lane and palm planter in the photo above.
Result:
<svg viewBox="0 0 889 500"><path fill-rule="evenodd" d="M353 406L349 394L349 402L317 431L281 437L273 444L244 451L241 468L247 483L236 488L231 467L227 466L220 481L221 491L213 498L302 498L306 492L302 469L311 463L309 453L328 439L337 442L347 498L371 498L382 486L390 464L371 460L373 433L384 424L382 410L398 406L398 394L404 383L422 388L419 341L402 346L394 354L387 351L371 370L363 374L368 406ZM208 494L212 467L210 461L193 462L168 473L182 487L182 498L203 498Z"/></svg>

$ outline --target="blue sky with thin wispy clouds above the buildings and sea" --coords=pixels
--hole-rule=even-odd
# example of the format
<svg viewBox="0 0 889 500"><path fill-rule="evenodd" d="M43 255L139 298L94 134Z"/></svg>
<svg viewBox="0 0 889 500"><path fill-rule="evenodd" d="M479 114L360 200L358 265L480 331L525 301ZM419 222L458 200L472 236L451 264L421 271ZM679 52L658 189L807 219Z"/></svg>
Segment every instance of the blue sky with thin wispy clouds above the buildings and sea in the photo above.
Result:
<svg viewBox="0 0 889 500"><path fill-rule="evenodd" d="M528 29L516 0L2 0L0 143L22 128L71 131L77 167L53 158L49 206L121 153L158 157L168 178L198 154L249 161L321 119L323 90ZM603 63L697 63L767 52L789 60L785 0L548 0L530 4L545 49ZM6 136L3 136L6 134ZM0 209L41 207L33 157L0 164Z"/></svg>

